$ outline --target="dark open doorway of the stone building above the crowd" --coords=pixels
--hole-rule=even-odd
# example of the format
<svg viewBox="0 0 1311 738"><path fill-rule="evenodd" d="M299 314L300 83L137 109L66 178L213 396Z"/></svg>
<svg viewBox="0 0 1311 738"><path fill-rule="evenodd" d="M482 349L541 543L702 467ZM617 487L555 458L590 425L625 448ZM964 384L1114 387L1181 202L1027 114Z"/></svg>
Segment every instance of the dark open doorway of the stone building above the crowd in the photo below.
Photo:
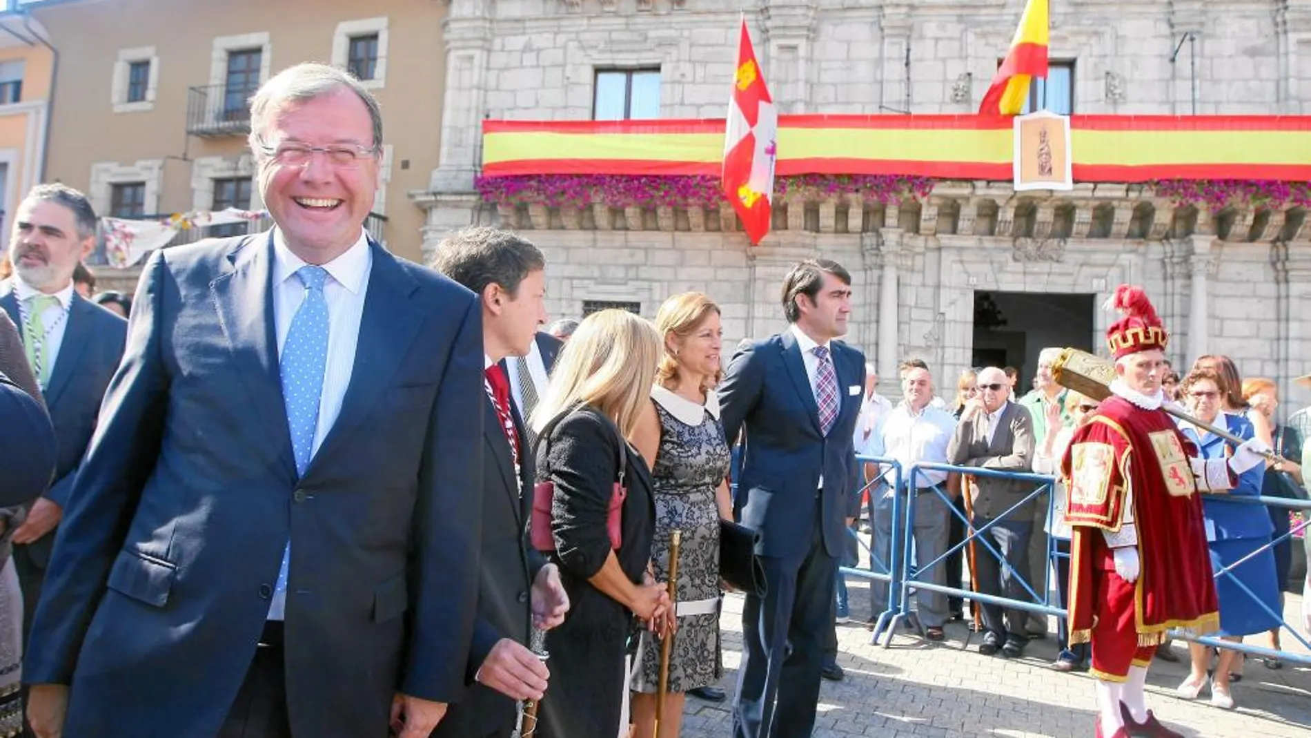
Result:
<svg viewBox="0 0 1311 738"><path fill-rule="evenodd" d="M974 366L1020 370L1015 391L1024 396L1042 349L1092 351L1093 303L1093 295L974 292Z"/></svg>

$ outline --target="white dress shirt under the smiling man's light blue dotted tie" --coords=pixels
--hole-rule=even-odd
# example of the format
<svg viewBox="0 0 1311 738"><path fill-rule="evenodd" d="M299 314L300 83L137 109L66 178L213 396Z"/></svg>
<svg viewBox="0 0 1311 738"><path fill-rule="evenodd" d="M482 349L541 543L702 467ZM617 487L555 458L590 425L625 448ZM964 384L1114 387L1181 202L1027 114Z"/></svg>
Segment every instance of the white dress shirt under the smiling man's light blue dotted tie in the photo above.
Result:
<svg viewBox="0 0 1311 738"><path fill-rule="evenodd" d="M305 262L291 253L282 231L273 235L273 321L278 332L278 357L287 342L291 319L308 291L296 270ZM324 282L324 301L328 303L328 364L324 367L324 387L319 398L319 425L315 427L315 442L309 455L319 452L328 431L337 422L341 402L350 385L350 374L355 368L355 343L359 338L359 321L364 316L364 295L368 292L368 274L374 269L374 254L368 250L368 240L361 229L359 240L346 249L346 253L321 265L328 271Z"/></svg>

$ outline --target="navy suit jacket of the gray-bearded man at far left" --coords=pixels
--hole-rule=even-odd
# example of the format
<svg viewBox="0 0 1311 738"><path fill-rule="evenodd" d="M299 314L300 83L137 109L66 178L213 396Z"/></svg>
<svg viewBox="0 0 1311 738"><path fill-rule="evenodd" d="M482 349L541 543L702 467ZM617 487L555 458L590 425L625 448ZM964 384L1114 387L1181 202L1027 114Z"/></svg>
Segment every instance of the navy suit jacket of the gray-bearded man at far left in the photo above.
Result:
<svg viewBox="0 0 1311 738"><path fill-rule="evenodd" d="M13 281L0 283L0 307L9 313L18 336L22 337L22 316L18 311L18 296L13 291ZM68 493L73 486L75 472L87 452L92 433L96 430L96 417L105 398L114 370L123 357L123 342L127 337L127 321L105 308L83 299L76 291L68 304L68 317L64 325L64 340L59 346L59 357L45 389L46 410L55 426L59 455L55 461L55 476L50 489L42 497L60 507L67 507ZM38 569L50 561L55 534L29 545L16 547ZM31 596L31 595L29 595Z"/></svg>

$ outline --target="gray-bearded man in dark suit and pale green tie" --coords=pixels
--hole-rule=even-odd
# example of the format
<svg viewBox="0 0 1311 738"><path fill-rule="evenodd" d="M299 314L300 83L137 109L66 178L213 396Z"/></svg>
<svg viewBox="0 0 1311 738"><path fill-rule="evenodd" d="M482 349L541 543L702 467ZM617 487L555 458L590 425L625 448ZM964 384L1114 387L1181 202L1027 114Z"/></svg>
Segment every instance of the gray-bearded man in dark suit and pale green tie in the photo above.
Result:
<svg viewBox="0 0 1311 738"><path fill-rule="evenodd" d="M59 439L54 480L13 532L25 634L41 599L73 472L96 430L96 413L127 336L123 319L75 288L73 271L94 245L96 211L87 197L64 185L38 185L14 214L9 235L14 275L0 283L0 305L18 326Z"/></svg>

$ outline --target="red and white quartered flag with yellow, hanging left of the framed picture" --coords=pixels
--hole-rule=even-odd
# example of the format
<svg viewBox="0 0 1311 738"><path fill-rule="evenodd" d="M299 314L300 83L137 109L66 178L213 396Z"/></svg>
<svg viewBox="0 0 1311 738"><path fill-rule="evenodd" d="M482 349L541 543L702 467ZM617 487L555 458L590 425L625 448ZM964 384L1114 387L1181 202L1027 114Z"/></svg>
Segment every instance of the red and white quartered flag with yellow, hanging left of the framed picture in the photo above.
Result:
<svg viewBox="0 0 1311 738"><path fill-rule="evenodd" d="M722 182L724 194L742 219L751 244L759 244L770 232L777 138L779 111L764 85L743 18L733 94L729 97L728 131L724 135Z"/></svg>

